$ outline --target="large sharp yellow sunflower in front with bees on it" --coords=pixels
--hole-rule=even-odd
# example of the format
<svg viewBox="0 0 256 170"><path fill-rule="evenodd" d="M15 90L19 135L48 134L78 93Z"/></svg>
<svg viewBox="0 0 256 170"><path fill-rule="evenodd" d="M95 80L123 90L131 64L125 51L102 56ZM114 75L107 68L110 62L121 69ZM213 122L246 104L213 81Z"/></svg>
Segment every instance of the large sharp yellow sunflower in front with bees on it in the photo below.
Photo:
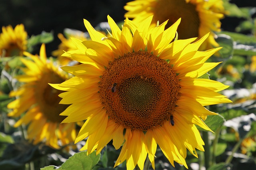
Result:
<svg viewBox="0 0 256 170"><path fill-rule="evenodd" d="M62 122L86 120L75 141L88 137L81 150L98 154L113 140L122 146L115 166L126 160L130 170L143 169L147 154L154 168L159 145L173 166L188 168L186 149L196 157L204 150L195 124L211 131L202 119L216 114L204 106L231 102L218 93L228 86L198 78L219 64L205 61L221 48L197 51L208 34L172 42L180 19L164 30L167 21L150 27L152 18L139 25L126 18L120 30L108 16L110 37L84 20L92 41L76 40L79 52L70 52L83 64L63 66L75 76L52 86L67 91L60 104L71 104Z"/></svg>

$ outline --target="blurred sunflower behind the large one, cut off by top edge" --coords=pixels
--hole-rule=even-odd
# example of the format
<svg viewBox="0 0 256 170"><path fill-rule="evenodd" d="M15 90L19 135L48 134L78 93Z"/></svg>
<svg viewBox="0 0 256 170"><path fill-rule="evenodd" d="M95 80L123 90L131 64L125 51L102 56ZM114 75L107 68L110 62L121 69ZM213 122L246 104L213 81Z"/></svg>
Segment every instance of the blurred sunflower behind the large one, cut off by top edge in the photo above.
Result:
<svg viewBox="0 0 256 170"><path fill-rule="evenodd" d="M212 46L218 47L214 31L220 31L220 19L225 13L222 4L222 0L135 0L124 6L128 11L124 16L141 22L154 15L151 24L169 20L168 27L182 18L177 30L178 38L200 39L210 32L208 39L200 47L201 50L205 50Z"/></svg>

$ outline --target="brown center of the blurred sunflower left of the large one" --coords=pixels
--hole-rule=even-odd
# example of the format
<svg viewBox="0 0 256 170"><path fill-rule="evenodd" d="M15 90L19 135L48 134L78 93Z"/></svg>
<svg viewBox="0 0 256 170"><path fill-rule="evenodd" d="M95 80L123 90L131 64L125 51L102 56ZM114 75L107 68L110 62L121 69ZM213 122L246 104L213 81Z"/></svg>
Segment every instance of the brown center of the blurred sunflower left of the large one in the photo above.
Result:
<svg viewBox="0 0 256 170"><path fill-rule="evenodd" d="M64 81L65 78L54 71L46 72L38 81L36 99L38 107L48 121L60 123L66 118L66 116L59 115L68 107L68 105L59 104L61 98L58 95L64 91L57 90L48 84L59 84Z"/></svg>

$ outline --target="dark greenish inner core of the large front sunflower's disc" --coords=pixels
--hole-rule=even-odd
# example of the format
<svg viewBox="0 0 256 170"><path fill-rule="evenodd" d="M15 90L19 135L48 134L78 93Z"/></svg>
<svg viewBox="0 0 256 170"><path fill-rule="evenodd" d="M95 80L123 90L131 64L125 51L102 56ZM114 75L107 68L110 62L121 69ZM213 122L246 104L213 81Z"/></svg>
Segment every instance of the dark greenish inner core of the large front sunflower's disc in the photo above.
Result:
<svg viewBox="0 0 256 170"><path fill-rule="evenodd" d="M135 77L128 78L120 84L118 95L124 111L146 118L156 108L162 93L160 84L152 78Z"/></svg>

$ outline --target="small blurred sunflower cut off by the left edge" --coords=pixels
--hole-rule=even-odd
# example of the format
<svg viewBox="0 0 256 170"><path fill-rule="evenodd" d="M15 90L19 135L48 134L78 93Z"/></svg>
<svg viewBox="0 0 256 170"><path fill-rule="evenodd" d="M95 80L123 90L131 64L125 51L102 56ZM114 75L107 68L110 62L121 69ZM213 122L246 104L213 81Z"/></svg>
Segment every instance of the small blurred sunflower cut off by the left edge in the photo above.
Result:
<svg viewBox="0 0 256 170"><path fill-rule="evenodd" d="M22 55L26 51L27 32L24 30L24 25L16 25L13 29L11 25L2 27L0 34L0 56L12 57Z"/></svg>

